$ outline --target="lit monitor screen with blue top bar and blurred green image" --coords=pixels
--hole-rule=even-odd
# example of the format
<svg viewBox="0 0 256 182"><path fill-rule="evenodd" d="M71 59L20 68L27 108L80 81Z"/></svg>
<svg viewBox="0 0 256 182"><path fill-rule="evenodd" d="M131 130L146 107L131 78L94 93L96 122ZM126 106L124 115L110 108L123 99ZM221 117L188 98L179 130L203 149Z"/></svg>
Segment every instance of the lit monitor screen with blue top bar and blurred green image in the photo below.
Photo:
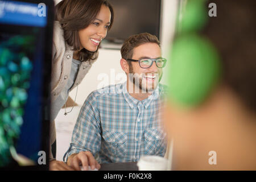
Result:
<svg viewBox="0 0 256 182"><path fill-rule="evenodd" d="M0 167L38 166L47 158L52 8L46 1L0 1Z"/></svg>

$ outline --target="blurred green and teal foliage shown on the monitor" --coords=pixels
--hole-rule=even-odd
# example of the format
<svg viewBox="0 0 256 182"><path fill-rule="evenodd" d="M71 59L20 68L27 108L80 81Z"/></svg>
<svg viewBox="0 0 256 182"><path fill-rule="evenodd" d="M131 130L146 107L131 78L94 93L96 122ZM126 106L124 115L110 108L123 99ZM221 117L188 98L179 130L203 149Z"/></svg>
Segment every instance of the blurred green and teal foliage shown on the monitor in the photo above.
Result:
<svg viewBox="0 0 256 182"><path fill-rule="evenodd" d="M3 39L3 40L2 40ZM15 145L23 123L24 105L30 86L34 52L33 36L1 38L0 43L0 166L10 162L10 146Z"/></svg>

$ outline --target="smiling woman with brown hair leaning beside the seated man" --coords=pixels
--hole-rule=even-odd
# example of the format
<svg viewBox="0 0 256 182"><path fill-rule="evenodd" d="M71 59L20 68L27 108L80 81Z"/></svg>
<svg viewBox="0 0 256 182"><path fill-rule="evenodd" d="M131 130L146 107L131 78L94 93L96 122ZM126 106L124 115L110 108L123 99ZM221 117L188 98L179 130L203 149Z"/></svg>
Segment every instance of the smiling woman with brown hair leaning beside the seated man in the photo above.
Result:
<svg viewBox="0 0 256 182"><path fill-rule="evenodd" d="M98 46L113 24L113 8L104 0L63 0L55 7L53 31L51 121L98 57ZM51 141L55 141L55 125L51 122ZM51 152L50 152L51 153ZM50 169L71 169L63 162L52 160Z"/></svg>

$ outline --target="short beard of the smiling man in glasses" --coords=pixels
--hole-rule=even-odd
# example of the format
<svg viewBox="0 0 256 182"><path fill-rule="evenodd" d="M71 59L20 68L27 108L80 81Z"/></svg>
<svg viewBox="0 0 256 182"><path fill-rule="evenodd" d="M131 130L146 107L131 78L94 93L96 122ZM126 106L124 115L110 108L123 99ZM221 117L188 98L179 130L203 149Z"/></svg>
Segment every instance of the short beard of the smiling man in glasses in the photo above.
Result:
<svg viewBox="0 0 256 182"><path fill-rule="evenodd" d="M146 78L144 78L142 81L142 77L146 75L156 76L154 78L154 82L148 83ZM158 86L161 78L162 75L160 75L159 73L143 73L142 75L139 75L138 73L134 73L132 65L129 66L129 80L133 82L133 85L137 86L139 90L142 90L142 93L152 93ZM140 91L137 92L135 88L135 93L140 93Z"/></svg>

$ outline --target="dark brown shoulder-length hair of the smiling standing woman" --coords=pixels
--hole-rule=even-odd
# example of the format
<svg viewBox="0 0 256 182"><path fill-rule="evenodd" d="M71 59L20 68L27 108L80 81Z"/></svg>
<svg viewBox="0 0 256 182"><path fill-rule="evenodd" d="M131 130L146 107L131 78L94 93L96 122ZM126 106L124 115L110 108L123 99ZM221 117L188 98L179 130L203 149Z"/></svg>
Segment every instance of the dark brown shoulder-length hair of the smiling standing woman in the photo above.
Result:
<svg viewBox="0 0 256 182"><path fill-rule="evenodd" d="M109 7L111 13L109 29L112 27L114 11L112 5L104 0L63 0L55 6L55 20L58 20L64 30L64 39L73 51L79 51L81 46L79 30L89 26L96 19L101 6ZM108 29L108 30L109 30ZM98 46L99 47L99 46ZM85 48L78 52L81 61L97 59L97 51L91 52Z"/></svg>

